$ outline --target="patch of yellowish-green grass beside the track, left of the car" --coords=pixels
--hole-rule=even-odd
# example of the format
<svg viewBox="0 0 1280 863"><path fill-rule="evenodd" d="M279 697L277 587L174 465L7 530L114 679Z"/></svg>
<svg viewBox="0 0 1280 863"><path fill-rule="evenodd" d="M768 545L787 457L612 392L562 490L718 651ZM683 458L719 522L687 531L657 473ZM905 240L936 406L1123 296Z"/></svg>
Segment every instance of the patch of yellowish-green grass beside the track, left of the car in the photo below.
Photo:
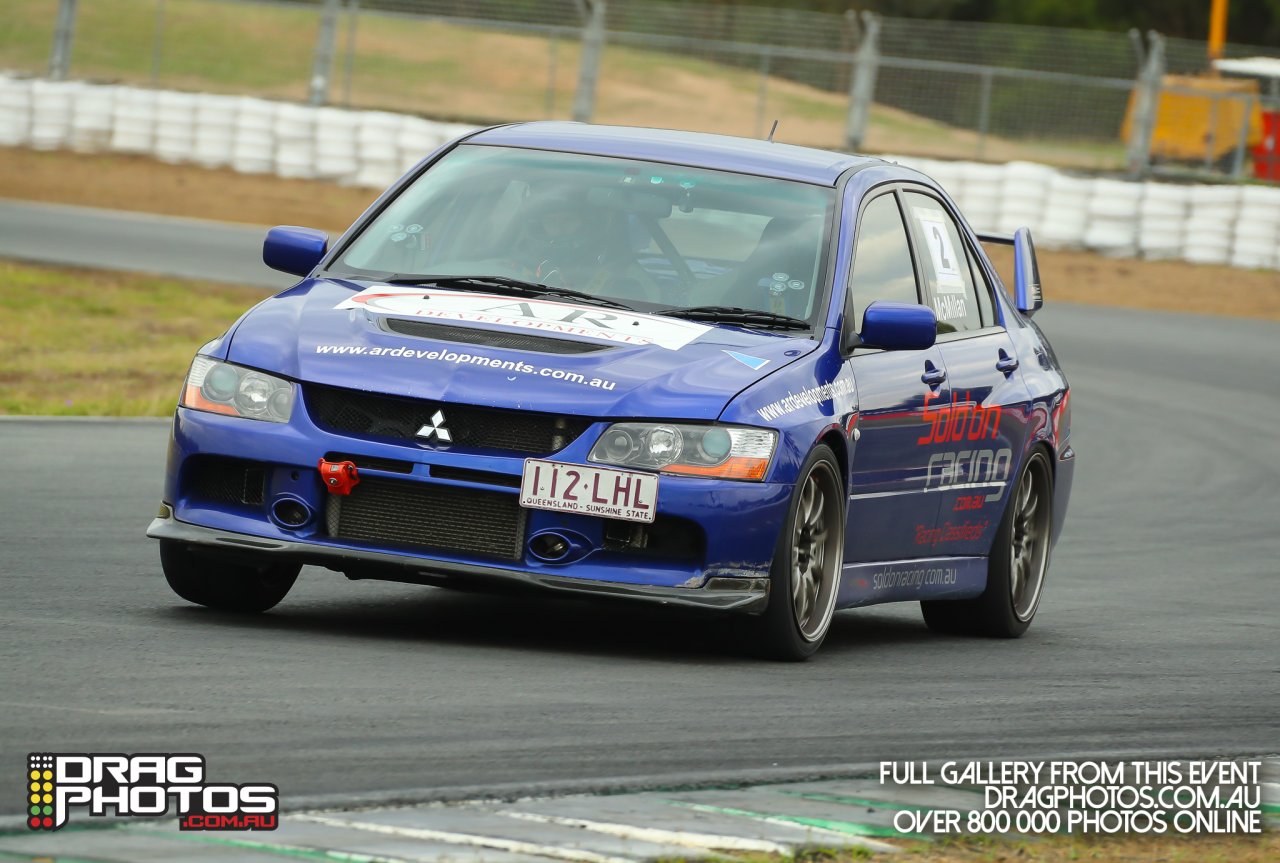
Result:
<svg viewBox="0 0 1280 863"><path fill-rule="evenodd" d="M201 344L265 296L0 260L0 414L164 416Z"/></svg>

